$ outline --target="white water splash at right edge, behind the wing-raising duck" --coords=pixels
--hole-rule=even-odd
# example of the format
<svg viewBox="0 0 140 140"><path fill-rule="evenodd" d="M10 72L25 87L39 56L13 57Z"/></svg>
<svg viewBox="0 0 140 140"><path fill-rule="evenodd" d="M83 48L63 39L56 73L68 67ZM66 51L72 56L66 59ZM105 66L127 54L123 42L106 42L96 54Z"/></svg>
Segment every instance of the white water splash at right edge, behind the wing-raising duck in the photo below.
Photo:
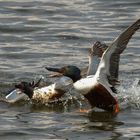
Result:
<svg viewBox="0 0 140 140"><path fill-rule="evenodd" d="M118 90L120 92L118 100L122 110L126 108L140 109L140 85L138 78L123 80Z"/></svg>

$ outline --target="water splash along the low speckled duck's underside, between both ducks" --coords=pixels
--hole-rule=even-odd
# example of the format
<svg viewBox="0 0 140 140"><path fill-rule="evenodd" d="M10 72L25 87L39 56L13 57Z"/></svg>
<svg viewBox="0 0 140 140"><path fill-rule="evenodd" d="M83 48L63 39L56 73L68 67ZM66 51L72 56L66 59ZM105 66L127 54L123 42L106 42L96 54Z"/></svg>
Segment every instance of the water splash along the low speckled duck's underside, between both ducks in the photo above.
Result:
<svg viewBox="0 0 140 140"><path fill-rule="evenodd" d="M56 109L56 108L62 108L65 111L73 110L75 108L81 108L83 106L83 96L75 91L69 90L66 92L61 98L59 99L53 99L49 100L49 98L46 96L38 97L31 100L31 104L35 107L47 107ZM73 108L73 109L72 109Z"/></svg>

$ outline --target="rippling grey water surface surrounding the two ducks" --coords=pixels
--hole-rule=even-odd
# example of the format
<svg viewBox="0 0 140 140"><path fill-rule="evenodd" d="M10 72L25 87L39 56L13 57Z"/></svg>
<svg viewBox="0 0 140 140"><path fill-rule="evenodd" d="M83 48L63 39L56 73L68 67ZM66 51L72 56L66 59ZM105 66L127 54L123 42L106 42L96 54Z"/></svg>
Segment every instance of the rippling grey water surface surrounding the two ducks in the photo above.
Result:
<svg viewBox="0 0 140 140"><path fill-rule="evenodd" d="M110 43L138 18L139 0L0 0L1 96L15 82L47 77L47 65L85 68L94 41ZM139 79L140 30L121 57L117 116L0 103L0 139L139 140Z"/></svg>

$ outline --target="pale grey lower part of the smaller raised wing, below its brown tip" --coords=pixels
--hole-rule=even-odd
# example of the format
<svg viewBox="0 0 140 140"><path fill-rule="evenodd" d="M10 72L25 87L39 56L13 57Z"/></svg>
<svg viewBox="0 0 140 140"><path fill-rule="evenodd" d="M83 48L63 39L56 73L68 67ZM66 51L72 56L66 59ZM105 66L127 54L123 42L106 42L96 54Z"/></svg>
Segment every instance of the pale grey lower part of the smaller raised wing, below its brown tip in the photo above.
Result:
<svg viewBox="0 0 140 140"><path fill-rule="evenodd" d="M87 76L94 75L96 73L99 63L100 58L97 55L89 56L89 66Z"/></svg>

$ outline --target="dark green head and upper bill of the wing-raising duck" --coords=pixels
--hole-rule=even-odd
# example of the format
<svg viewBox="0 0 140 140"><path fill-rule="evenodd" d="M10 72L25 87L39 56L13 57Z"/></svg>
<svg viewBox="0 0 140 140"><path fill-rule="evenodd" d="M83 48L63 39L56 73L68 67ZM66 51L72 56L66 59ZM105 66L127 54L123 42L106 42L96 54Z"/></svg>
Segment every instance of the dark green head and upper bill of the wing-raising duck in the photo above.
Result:
<svg viewBox="0 0 140 140"><path fill-rule="evenodd" d="M48 71L53 71L59 73L59 75L70 77L73 82L81 79L81 70L72 65L64 66L62 68L52 68L52 67L45 67Z"/></svg>

